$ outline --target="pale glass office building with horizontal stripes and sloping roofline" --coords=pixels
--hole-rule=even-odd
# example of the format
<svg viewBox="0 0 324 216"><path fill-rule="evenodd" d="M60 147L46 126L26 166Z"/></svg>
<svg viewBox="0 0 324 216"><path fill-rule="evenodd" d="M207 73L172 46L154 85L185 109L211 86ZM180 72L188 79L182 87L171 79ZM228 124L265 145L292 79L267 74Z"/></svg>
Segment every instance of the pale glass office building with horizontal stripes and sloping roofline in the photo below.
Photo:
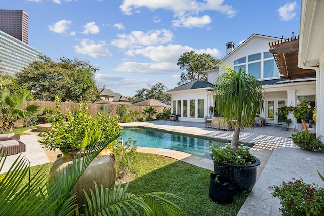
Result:
<svg viewBox="0 0 324 216"><path fill-rule="evenodd" d="M0 72L15 75L33 61L41 60L42 52L25 42L0 31Z"/></svg>

